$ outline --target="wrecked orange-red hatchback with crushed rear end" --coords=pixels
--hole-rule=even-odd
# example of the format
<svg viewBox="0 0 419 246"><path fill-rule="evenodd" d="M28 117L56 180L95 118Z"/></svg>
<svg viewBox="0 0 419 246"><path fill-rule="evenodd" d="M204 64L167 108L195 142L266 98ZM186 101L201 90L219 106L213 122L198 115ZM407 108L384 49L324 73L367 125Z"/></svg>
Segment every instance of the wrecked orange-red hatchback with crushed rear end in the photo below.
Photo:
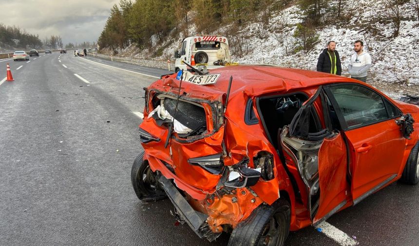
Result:
<svg viewBox="0 0 419 246"><path fill-rule="evenodd" d="M419 181L419 106L314 71L238 65L145 88L140 200L169 198L200 238L283 245L397 180Z"/></svg>

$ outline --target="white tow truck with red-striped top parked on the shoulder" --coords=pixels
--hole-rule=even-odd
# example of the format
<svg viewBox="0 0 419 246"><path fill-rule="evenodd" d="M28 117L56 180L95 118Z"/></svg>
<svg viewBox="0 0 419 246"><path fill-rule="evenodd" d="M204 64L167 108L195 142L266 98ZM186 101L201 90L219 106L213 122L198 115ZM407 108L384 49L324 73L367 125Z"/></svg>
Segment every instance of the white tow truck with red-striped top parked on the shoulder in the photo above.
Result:
<svg viewBox="0 0 419 246"><path fill-rule="evenodd" d="M229 41L223 36L193 36L185 38L180 49L174 52L174 69L188 69L184 63L197 68L199 65L214 69L231 64Z"/></svg>

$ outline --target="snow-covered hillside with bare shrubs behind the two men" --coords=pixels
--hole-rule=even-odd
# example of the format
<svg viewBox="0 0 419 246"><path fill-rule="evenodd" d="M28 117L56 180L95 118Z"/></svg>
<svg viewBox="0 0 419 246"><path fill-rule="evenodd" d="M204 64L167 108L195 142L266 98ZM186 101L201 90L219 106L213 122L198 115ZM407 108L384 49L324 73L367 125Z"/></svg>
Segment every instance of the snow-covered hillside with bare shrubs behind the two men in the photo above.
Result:
<svg viewBox="0 0 419 246"><path fill-rule="evenodd" d="M251 37L247 41L248 54L237 57L232 54L233 60L240 63L265 63L286 67L295 67L315 70L317 58L325 48L327 41L336 41L339 51L343 75L347 72L347 64L353 54L353 41L364 41L373 60L369 71L368 82L385 90L389 95L396 94L419 95L419 21L415 10L414 0L409 0L400 5L400 32L396 38L392 37L393 27L389 21L389 8L386 0L353 0L350 7L352 16L341 27L325 25L317 30L319 42L309 52L292 52L295 48L293 33L296 24L302 21L301 10L291 6L278 13L274 13L266 29L260 22L247 24L240 32ZM333 4L333 3L331 3ZM387 20L386 20L387 19ZM369 25L376 30L370 34L365 30ZM220 27L213 34L225 33L225 28ZM189 33L194 33L194 26L190 26ZM174 34L174 39L167 39L163 43L154 43L153 50L162 50L162 55L152 58L147 49L139 50L133 46L122 51L120 56L130 59L154 60L166 62L171 59L173 52L178 48L184 38L181 34ZM230 40L231 44L231 40ZM128 58L127 57L127 58ZM167 67L167 65L161 66Z"/></svg>

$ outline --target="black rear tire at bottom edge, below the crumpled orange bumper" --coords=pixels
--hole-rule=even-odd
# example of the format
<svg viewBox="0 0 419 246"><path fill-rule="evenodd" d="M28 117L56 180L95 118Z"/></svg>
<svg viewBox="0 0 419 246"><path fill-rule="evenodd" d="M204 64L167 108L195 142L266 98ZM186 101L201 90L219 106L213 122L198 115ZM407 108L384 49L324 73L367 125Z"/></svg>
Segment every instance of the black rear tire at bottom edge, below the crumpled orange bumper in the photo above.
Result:
<svg viewBox="0 0 419 246"><path fill-rule="evenodd" d="M291 210L286 200L261 205L234 228L228 246L283 246L290 221Z"/></svg>

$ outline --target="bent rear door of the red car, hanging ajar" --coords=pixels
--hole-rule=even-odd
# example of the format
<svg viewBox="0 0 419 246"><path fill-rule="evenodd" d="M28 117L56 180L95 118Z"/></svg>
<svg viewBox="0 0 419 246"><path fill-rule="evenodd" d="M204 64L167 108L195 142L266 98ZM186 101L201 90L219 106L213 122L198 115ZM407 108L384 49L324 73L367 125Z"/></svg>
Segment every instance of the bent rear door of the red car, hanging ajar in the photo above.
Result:
<svg viewBox="0 0 419 246"><path fill-rule="evenodd" d="M323 119L318 132L309 132L310 117ZM322 116L322 117L320 117ZM312 121L311 121L312 122ZM281 134L286 160L296 167L305 184L312 225L318 225L346 204L348 157L339 131L332 128L328 102L322 86L296 113Z"/></svg>

